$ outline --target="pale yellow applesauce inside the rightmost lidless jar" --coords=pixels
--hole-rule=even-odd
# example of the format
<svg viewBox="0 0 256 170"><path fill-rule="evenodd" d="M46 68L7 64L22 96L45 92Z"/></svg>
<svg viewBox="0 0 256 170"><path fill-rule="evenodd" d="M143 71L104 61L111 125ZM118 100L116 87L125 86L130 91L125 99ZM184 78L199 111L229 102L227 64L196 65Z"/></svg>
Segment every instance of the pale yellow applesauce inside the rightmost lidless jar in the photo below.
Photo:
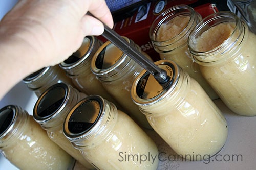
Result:
<svg viewBox="0 0 256 170"><path fill-rule="evenodd" d="M234 32L231 23L219 25L203 32L192 39L192 47L198 52L207 52L230 41ZM238 37L238 35L234 36ZM234 39L236 40L236 39ZM256 35L245 32L243 41L229 53L195 57L205 79L217 91L223 102L235 113L240 115L256 115ZM209 64L206 64L206 63Z"/></svg>

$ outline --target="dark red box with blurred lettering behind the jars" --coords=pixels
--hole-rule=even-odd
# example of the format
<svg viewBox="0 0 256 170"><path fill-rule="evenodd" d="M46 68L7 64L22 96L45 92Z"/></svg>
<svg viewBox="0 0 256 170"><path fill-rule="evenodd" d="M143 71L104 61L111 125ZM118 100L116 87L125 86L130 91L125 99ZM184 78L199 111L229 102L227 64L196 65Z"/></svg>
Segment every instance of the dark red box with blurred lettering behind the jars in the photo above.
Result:
<svg viewBox="0 0 256 170"><path fill-rule="evenodd" d="M119 35L132 39L137 45L141 47L142 51L150 55L154 61L158 61L160 60L159 54L154 50L148 35L152 22L159 14L170 7L179 4L192 5L196 2L197 0L159 0L148 2L147 4L141 5L133 16L116 22L113 29ZM197 6L194 9L202 16L202 18L218 11L218 9L215 7L215 4L210 3ZM106 41L102 36L99 36L98 38L103 42Z"/></svg>

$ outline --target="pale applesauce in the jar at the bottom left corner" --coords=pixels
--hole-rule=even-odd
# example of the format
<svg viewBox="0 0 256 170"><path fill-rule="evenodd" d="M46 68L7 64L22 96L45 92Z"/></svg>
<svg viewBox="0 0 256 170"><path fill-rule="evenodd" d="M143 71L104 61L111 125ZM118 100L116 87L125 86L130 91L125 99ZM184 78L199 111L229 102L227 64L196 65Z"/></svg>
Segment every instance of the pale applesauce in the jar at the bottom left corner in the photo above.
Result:
<svg viewBox="0 0 256 170"><path fill-rule="evenodd" d="M19 169L64 170L72 169L74 164L74 159L51 141L32 116L18 142L8 144L2 153Z"/></svg>

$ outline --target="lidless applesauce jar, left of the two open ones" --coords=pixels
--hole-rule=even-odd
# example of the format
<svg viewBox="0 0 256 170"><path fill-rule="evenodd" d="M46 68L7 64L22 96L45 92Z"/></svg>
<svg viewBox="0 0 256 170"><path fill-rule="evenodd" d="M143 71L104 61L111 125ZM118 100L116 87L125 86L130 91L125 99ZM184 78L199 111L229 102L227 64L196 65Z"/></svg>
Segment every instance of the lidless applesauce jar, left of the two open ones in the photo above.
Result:
<svg viewBox="0 0 256 170"><path fill-rule="evenodd" d="M201 15L187 5L173 6L154 20L150 27L150 39L162 60L176 62L214 100L219 96L202 76L187 45L189 33L201 19Z"/></svg>

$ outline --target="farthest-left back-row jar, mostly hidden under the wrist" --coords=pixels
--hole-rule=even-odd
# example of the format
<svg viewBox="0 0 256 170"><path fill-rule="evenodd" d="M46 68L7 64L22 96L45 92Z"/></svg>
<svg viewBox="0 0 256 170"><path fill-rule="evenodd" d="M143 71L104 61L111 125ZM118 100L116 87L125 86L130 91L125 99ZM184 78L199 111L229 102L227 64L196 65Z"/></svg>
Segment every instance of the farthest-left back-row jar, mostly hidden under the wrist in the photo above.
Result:
<svg viewBox="0 0 256 170"><path fill-rule="evenodd" d="M73 85L72 80L66 76L58 65L44 67L23 79L27 87L34 91L39 97L45 90L56 83L66 83Z"/></svg>

